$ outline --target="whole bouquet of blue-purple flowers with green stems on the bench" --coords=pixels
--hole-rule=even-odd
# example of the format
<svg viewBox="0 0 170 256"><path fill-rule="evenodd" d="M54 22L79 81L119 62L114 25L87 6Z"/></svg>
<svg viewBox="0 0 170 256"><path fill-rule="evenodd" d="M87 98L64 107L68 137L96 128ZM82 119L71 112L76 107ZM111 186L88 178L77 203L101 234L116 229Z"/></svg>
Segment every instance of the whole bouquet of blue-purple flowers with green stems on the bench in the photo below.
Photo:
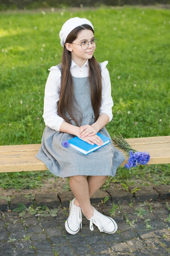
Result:
<svg viewBox="0 0 170 256"><path fill-rule="evenodd" d="M112 138L115 145L119 148L126 151L127 155L129 156L128 163L125 164L125 168L129 169L131 167L136 167L138 164L147 164L150 160L149 153L146 152L139 152L135 149L132 149L128 142L124 139L124 137L120 134L119 136L115 136Z"/></svg>

